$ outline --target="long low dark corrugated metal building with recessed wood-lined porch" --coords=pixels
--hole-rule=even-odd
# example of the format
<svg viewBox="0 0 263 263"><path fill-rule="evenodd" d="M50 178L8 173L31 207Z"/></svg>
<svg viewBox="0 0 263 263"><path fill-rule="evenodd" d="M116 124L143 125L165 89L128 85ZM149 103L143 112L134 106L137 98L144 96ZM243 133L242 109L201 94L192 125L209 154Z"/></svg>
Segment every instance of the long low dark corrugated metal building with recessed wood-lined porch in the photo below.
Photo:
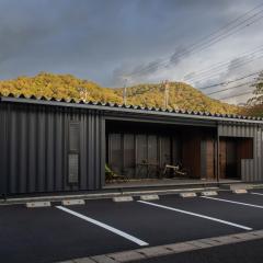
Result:
<svg viewBox="0 0 263 263"><path fill-rule="evenodd" d="M127 180L263 182L263 119L111 103L0 96L0 194L102 190Z"/></svg>

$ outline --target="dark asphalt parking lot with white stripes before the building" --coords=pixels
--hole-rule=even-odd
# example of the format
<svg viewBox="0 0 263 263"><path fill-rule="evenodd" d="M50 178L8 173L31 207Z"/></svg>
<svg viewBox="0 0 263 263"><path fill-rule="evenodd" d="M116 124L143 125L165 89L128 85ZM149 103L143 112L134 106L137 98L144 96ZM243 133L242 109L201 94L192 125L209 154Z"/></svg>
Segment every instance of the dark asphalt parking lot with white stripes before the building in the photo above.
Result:
<svg viewBox="0 0 263 263"><path fill-rule="evenodd" d="M0 206L0 262L57 262L263 229L263 191L128 203Z"/></svg>

